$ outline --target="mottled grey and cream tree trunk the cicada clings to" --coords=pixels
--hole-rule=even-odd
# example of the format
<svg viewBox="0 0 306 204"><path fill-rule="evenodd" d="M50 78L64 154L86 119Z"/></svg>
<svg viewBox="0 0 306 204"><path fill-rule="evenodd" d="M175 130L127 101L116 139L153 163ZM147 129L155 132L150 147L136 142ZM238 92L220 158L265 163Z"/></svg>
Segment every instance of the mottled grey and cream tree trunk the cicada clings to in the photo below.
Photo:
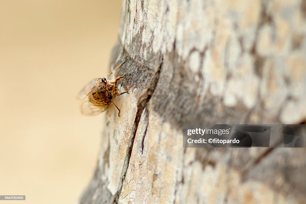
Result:
<svg viewBox="0 0 306 204"><path fill-rule="evenodd" d="M183 148L183 124L306 118L306 1L125 0L86 203L306 203L305 148Z"/></svg>

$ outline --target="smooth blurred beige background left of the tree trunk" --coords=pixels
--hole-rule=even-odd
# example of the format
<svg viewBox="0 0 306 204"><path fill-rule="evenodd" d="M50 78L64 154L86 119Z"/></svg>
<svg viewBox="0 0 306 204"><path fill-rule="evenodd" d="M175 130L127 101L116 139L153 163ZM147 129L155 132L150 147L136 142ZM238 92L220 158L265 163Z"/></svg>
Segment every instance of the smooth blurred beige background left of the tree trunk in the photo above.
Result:
<svg viewBox="0 0 306 204"><path fill-rule="evenodd" d="M108 72L121 1L2 0L0 195L75 203L93 175L105 113L76 95Z"/></svg>

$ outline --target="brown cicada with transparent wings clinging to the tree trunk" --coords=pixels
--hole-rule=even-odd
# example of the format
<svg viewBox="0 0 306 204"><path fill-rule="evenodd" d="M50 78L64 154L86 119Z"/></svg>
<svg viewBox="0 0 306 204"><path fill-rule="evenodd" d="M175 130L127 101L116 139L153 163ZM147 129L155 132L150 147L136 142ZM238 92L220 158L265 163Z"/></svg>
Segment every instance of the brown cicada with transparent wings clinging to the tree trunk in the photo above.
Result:
<svg viewBox="0 0 306 204"><path fill-rule="evenodd" d="M125 59L126 61L126 59ZM128 93L128 91L119 93L119 89L115 86L116 82L124 76L116 77L116 70L119 69L125 62L119 65L114 70L114 80L109 80L107 76L111 75L110 72L106 78L97 78L91 80L78 94L78 99L81 100L81 113L84 115L98 115L105 111L111 103L119 110L118 116L120 117L120 109L114 104L113 100L116 96Z"/></svg>

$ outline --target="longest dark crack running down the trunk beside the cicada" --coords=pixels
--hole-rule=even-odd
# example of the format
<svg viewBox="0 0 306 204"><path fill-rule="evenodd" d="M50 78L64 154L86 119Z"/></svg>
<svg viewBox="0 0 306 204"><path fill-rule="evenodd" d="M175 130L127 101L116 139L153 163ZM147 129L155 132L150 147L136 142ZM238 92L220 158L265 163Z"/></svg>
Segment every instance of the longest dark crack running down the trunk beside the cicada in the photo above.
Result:
<svg viewBox="0 0 306 204"><path fill-rule="evenodd" d="M123 168L122 168L122 171L121 171L121 176L120 176L120 181L119 181L118 189L117 189L117 192L112 197L110 203L114 203L115 204L115 203L118 203L118 201L119 201L119 197L120 197L121 190L122 190L122 187L123 187L123 182L124 182L126 173L128 171L128 168L129 168L129 161L130 161L131 154L132 154L132 149L133 149L133 144L134 144L134 140L135 140L138 124L140 122L140 117L141 117L141 115L143 113L143 110L147 106L147 103L151 99L152 94L154 93L156 85L157 85L157 83L159 81L159 75L160 75L161 67L162 67L162 62L160 64L160 66L159 66L159 69L155 73L155 76L153 77L153 80L151 82L151 86L147 88L147 92L146 92L147 94L141 96L140 97L140 101L137 104L137 113L136 113L135 121L134 121L134 124L133 124L133 128L132 128L129 144L128 144L128 147L127 147L127 154L125 155L125 161L124 161Z"/></svg>

